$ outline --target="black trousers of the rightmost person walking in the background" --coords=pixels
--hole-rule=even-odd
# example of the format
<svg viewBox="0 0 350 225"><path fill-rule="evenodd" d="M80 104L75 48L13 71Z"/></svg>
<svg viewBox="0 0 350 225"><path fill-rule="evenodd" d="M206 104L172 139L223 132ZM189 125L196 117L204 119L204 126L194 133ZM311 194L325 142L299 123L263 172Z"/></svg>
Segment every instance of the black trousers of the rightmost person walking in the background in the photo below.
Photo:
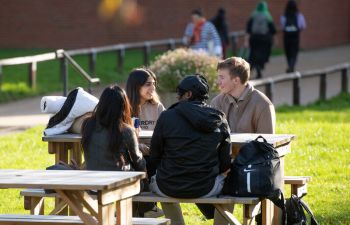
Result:
<svg viewBox="0 0 350 225"><path fill-rule="evenodd" d="M285 34L283 44L288 64L287 72L294 72L299 53L299 34Z"/></svg>

